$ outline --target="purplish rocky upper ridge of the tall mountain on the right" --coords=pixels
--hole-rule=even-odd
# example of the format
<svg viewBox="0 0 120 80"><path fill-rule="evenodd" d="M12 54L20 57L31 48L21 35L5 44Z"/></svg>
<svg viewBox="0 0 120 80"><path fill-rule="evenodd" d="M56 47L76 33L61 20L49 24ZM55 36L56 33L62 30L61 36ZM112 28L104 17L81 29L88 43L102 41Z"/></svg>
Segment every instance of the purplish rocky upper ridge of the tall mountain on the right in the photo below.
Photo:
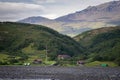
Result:
<svg viewBox="0 0 120 80"><path fill-rule="evenodd" d="M94 17L96 17L96 15L99 17L99 15L101 16L107 16L106 14L102 14L102 13L108 13L111 14L112 13L116 13L114 11L119 11L120 12L120 1L112 1L112 2L108 2L108 3L104 3L98 6L90 6L82 11L77 11L75 13L72 14L68 14L67 16L63 16L63 17L59 17L56 20L61 21L59 19L70 19L70 20L87 20L89 17L90 19L88 19L88 21L92 21L94 19ZM91 17L92 16L92 17ZM115 17L115 16L114 16ZM92 19L92 20L91 20Z"/></svg>

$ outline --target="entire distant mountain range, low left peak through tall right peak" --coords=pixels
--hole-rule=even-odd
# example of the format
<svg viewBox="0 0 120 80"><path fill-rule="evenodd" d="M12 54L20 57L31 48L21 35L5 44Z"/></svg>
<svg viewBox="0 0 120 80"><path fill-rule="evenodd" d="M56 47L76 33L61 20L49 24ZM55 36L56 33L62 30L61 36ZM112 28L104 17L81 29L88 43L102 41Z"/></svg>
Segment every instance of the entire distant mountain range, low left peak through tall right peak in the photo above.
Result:
<svg viewBox="0 0 120 80"><path fill-rule="evenodd" d="M89 6L84 10L54 20L31 17L20 20L20 22L45 25L62 34L75 36L91 29L120 25L119 13L120 1L111 1L97 6Z"/></svg>

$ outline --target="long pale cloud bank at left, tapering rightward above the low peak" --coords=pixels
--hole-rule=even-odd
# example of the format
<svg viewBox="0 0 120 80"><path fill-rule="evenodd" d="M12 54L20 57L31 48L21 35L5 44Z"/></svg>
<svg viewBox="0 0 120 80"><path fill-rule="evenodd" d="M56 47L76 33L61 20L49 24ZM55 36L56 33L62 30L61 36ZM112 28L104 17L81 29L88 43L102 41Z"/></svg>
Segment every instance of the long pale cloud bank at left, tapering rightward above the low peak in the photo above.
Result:
<svg viewBox="0 0 120 80"><path fill-rule="evenodd" d="M43 14L45 7L37 4L0 2L0 20L15 20Z"/></svg>

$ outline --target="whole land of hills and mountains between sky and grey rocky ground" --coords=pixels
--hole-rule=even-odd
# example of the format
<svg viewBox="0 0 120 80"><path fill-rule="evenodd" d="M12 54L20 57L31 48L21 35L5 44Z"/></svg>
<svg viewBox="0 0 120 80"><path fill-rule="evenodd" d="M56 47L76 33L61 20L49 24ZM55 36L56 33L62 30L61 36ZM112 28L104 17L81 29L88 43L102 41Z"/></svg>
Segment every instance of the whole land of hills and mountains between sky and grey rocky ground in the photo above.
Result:
<svg viewBox="0 0 120 80"><path fill-rule="evenodd" d="M56 19L0 22L0 65L120 66L119 13L120 1L111 1Z"/></svg>

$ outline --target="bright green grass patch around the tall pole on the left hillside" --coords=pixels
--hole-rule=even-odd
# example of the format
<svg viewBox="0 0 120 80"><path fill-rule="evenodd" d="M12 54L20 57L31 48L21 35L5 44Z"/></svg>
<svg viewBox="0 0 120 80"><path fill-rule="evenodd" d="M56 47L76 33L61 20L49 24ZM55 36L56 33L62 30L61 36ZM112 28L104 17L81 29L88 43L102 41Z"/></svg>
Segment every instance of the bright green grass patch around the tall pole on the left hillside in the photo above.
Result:
<svg viewBox="0 0 120 80"><path fill-rule="evenodd" d="M28 47L24 48L22 51L29 55L28 60L25 62L32 63L35 59L42 59L43 64L36 64L36 65L53 65L56 61L45 61L45 50L36 50L32 48L34 43L31 43ZM35 65L35 64L33 64Z"/></svg>

